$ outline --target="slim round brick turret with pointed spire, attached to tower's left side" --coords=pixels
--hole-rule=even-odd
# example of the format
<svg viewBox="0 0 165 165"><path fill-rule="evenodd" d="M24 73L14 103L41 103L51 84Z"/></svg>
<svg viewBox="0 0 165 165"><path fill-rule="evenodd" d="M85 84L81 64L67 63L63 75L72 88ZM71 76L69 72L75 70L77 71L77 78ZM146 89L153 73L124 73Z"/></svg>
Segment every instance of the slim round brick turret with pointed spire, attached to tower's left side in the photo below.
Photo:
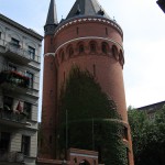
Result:
<svg viewBox="0 0 165 165"><path fill-rule="evenodd" d="M42 146L40 157L56 157L56 118L57 118L57 69L55 65L54 33L57 28L55 1L51 0L46 24L44 26L44 75L42 102Z"/></svg>

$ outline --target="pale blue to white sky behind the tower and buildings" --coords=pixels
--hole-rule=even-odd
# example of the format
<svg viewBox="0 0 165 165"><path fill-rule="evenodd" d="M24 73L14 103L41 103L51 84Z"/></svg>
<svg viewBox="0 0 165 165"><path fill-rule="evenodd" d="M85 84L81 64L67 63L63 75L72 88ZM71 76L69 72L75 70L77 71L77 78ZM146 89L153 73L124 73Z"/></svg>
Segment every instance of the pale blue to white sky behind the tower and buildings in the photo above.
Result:
<svg viewBox="0 0 165 165"><path fill-rule="evenodd" d="M56 0L58 21L75 0ZM99 0L124 34L127 105L165 100L165 14L156 0ZM44 35L50 0L0 0L0 13Z"/></svg>

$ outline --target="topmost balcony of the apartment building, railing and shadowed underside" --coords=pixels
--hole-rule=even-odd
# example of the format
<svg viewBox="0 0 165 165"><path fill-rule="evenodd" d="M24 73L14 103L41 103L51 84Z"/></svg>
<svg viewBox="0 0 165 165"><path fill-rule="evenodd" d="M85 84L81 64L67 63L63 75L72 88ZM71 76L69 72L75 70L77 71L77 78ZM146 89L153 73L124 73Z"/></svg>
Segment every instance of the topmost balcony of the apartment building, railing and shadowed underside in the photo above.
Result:
<svg viewBox="0 0 165 165"><path fill-rule="evenodd" d="M14 44L12 42L7 42L4 40L0 40L0 45L4 47L4 55L9 58L16 59L20 63L30 63L32 61L40 63L41 57L32 54L25 48L22 48L20 45Z"/></svg>

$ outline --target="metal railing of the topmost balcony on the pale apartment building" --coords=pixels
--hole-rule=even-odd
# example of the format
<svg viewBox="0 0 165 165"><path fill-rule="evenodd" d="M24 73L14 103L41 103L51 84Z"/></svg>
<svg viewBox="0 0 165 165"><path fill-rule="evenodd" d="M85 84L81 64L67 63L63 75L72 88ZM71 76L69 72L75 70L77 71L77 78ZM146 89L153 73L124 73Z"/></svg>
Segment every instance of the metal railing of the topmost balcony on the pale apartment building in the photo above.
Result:
<svg viewBox="0 0 165 165"><path fill-rule="evenodd" d="M7 41L0 38L0 46L3 46L6 48L4 53L12 52L12 53L18 54L19 56L22 56L22 57L28 58L30 61L41 63L40 56L32 54L28 50L22 48L20 45L15 45L12 42L7 42Z"/></svg>

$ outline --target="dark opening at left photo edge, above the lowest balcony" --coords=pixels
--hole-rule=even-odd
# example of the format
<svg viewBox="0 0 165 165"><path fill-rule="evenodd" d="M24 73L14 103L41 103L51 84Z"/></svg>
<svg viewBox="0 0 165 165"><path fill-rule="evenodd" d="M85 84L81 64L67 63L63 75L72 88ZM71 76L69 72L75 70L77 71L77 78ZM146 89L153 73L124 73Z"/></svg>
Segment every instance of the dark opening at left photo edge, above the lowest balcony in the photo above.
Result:
<svg viewBox="0 0 165 165"><path fill-rule="evenodd" d="M9 152L9 145L10 145L10 133L0 132L0 157L4 153Z"/></svg>

